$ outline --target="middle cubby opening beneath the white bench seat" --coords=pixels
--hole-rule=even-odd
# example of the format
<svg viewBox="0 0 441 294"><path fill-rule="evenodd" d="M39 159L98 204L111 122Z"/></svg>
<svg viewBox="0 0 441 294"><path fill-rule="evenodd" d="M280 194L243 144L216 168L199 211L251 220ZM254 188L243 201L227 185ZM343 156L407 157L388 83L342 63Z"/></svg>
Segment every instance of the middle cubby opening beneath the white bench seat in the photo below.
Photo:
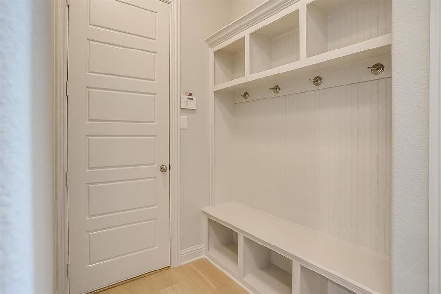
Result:
<svg viewBox="0 0 441 294"><path fill-rule="evenodd" d="M292 260L244 237L244 280L261 293L292 293Z"/></svg>

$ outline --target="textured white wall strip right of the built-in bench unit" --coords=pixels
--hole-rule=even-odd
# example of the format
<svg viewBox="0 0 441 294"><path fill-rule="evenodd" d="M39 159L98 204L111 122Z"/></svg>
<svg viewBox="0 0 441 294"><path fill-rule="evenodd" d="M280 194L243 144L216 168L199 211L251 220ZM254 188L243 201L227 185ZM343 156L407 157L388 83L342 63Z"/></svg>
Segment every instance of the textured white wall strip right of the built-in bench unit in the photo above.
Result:
<svg viewBox="0 0 441 294"><path fill-rule="evenodd" d="M428 77L429 1L393 1L393 293L428 293Z"/></svg>

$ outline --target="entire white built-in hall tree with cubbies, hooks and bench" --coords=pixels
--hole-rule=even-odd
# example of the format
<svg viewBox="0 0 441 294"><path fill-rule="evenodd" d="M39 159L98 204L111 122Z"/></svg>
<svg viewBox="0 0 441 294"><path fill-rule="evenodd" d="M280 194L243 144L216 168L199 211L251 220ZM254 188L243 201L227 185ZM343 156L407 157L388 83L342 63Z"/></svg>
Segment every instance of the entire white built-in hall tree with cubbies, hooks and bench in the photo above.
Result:
<svg viewBox="0 0 441 294"><path fill-rule="evenodd" d="M252 293L390 293L391 0L267 1L206 42L206 257Z"/></svg>

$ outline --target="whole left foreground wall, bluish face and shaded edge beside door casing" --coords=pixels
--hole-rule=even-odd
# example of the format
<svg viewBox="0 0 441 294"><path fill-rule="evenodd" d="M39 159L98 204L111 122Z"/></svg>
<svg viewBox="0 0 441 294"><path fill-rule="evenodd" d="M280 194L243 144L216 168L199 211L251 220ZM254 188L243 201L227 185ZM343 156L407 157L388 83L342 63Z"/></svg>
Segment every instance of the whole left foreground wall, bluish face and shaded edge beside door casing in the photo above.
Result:
<svg viewBox="0 0 441 294"><path fill-rule="evenodd" d="M0 292L53 293L52 2L0 5Z"/></svg>

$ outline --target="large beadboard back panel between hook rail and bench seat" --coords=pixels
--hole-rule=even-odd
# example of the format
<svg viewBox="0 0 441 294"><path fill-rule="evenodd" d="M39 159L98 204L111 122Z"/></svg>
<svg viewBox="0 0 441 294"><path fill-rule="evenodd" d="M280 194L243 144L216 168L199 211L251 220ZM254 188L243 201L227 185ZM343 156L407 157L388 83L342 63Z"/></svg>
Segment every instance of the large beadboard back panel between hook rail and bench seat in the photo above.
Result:
<svg viewBox="0 0 441 294"><path fill-rule="evenodd" d="M233 199L390 256L391 79L234 104Z"/></svg>

